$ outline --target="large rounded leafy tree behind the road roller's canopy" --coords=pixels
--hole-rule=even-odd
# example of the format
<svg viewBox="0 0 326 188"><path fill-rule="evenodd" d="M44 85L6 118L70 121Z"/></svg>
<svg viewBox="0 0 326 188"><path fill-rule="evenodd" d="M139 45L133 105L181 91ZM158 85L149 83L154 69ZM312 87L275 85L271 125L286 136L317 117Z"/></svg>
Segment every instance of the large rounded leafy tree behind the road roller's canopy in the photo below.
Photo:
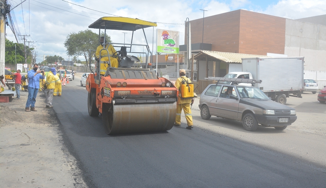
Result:
<svg viewBox="0 0 326 188"><path fill-rule="evenodd" d="M104 33L101 33L101 36L104 36ZM111 37L106 35L106 40L111 42ZM91 53L89 56L89 49L96 50L98 46L98 34L92 32L90 29L85 31L79 31L78 33L71 33L67 36L64 43L67 48L68 55L83 55L86 60L93 59L95 52Z"/></svg>

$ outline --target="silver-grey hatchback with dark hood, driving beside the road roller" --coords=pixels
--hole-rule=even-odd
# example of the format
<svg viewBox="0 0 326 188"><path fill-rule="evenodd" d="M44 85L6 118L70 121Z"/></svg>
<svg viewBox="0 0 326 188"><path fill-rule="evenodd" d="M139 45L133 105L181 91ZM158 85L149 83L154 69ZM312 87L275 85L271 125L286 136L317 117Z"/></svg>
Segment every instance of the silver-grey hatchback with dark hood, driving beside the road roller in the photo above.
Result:
<svg viewBox="0 0 326 188"><path fill-rule="evenodd" d="M200 116L211 116L242 121L247 131L258 126L284 130L296 119L294 108L274 102L259 88L211 84L200 95Z"/></svg>

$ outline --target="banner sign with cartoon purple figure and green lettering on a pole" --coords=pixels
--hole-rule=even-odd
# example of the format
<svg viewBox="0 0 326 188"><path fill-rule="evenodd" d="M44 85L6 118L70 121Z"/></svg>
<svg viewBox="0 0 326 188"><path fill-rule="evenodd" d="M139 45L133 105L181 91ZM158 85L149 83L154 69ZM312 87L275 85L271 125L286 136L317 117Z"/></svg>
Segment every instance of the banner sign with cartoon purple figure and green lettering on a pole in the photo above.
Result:
<svg viewBox="0 0 326 188"><path fill-rule="evenodd" d="M179 54L179 31L156 29L156 52Z"/></svg>

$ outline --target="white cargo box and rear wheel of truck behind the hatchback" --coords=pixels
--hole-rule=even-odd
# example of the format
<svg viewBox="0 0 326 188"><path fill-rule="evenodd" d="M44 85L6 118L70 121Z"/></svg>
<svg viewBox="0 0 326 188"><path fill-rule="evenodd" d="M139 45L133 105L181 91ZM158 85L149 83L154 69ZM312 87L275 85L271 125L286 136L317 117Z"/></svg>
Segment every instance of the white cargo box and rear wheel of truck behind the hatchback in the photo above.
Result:
<svg viewBox="0 0 326 188"><path fill-rule="evenodd" d="M276 102L285 104L289 96L302 98L304 57L242 58L242 71L251 73L249 78L261 80L254 86Z"/></svg>

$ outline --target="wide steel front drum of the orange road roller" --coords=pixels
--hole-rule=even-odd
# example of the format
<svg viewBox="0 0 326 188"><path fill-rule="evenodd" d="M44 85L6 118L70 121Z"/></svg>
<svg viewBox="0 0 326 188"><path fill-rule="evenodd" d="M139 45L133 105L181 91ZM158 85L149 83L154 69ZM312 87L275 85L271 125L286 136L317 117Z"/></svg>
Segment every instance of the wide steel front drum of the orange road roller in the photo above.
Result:
<svg viewBox="0 0 326 188"><path fill-rule="evenodd" d="M161 132L172 129L175 116L176 102L113 104L112 120L103 124L108 134Z"/></svg>

